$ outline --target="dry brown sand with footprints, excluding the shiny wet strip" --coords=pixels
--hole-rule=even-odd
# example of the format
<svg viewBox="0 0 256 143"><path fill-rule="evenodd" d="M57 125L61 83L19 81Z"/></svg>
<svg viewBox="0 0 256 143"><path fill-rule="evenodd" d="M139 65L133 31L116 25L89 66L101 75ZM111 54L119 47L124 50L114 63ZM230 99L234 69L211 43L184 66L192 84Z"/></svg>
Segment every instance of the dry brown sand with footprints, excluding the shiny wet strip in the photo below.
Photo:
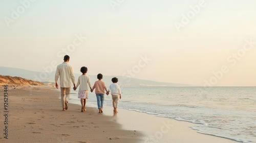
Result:
<svg viewBox="0 0 256 143"><path fill-rule="evenodd" d="M60 92L55 89L9 87L8 139L1 107L0 142L140 142L139 132L121 129L112 116L99 114L98 109L87 107L81 112L80 106L69 104L61 111ZM3 106L3 96L0 100Z"/></svg>

